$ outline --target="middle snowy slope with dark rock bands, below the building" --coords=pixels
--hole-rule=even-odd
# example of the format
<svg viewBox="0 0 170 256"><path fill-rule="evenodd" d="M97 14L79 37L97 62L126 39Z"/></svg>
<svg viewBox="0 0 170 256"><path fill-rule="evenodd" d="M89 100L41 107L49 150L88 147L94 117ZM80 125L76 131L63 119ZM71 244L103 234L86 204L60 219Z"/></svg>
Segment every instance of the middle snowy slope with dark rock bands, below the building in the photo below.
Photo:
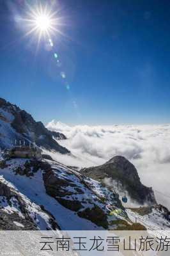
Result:
<svg viewBox="0 0 170 256"><path fill-rule="evenodd" d="M63 164L12 159L1 163L0 175L31 202L42 205L63 230L103 229L111 220L127 218L118 195ZM114 209L120 213L110 216Z"/></svg>

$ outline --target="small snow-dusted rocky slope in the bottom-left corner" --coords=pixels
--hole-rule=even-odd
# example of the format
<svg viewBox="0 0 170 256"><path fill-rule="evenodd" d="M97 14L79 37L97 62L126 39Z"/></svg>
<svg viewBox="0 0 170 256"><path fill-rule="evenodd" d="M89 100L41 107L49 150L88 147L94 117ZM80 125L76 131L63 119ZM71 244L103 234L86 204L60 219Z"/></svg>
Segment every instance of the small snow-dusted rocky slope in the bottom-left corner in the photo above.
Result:
<svg viewBox="0 0 170 256"><path fill-rule="evenodd" d="M54 218L0 176L0 226L5 230L58 230Z"/></svg>

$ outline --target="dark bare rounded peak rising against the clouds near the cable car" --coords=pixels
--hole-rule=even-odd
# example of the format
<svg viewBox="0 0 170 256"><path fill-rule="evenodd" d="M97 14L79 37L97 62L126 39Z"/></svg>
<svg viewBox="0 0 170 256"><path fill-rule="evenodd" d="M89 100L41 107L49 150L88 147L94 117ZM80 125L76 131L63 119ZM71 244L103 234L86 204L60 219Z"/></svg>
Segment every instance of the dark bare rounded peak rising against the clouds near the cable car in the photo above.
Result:
<svg viewBox="0 0 170 256"><path fill-rule="evenodd" d="M134 164L123 156L115 156L100 166L84 168L81 173L92 179L103 180L103 182L105 179L118 182L123 190L127 191L130 198L138 204L157 204L153 190L141 183ZM105 184L109 186L107 183Z"/></svg>

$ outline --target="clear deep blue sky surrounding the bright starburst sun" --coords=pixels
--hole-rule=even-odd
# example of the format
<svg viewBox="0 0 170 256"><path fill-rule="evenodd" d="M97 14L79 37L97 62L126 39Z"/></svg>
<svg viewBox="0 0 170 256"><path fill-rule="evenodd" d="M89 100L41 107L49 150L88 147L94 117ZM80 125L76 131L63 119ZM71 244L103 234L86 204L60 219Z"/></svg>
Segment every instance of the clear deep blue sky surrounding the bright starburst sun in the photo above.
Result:
<svg viewBox="0 0 170 256"><path fill-rule="evenodd" d="M35 35L16 22L25 1L0 4L0 97L45 124L170 123L169 1L60 0L53 8L66 36L52 37L52 51L42 40L37 52Z"/></svg>

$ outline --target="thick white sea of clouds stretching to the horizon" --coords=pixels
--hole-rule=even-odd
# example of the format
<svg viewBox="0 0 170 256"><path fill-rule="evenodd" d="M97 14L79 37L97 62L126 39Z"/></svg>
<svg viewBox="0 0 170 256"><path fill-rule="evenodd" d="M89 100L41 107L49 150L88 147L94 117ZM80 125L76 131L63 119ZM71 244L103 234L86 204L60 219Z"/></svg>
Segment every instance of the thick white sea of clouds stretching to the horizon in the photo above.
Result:
<svg viewBox="0 0 170 256"><path fill-rule="evenodd" d="M69 126L52 120L47 128L68 138L59 143L73 157L53 154L58 161L81 168L125 156L137 168L141 182L154 189L157 201L170 209L170 125Z"/></svg>

